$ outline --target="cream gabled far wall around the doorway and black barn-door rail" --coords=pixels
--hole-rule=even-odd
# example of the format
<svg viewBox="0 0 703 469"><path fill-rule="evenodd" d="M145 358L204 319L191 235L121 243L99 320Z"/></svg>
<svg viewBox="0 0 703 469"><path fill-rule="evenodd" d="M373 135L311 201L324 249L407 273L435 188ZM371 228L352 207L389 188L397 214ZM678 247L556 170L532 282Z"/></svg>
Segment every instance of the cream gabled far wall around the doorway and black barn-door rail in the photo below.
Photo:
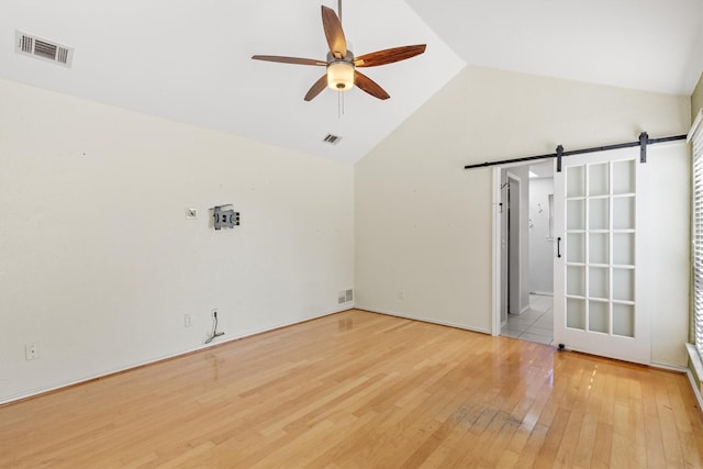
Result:
<svg viewBox="0 0 703 469"><path fill-rule="evenodd" d="M689 124L688 97L467 67L356 164L357 306L489 332L492 172L464 165L631 142L641 131L683 134ZM688 197L674 193L685 210ZM651 233L666 246L671 232L688 225ZM658 275L688 275L674 257ZM654 361L685 364L687 286L657 290L660 304L674 299L676 320L652 324Z"/></svg>

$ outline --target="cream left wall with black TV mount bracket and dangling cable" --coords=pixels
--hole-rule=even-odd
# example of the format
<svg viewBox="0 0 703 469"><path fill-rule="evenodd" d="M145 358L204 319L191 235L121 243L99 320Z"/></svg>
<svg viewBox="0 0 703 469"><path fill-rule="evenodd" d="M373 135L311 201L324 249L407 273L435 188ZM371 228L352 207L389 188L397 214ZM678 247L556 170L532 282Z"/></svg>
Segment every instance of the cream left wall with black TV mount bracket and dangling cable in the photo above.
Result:
<svg viewBox="0 0 703 469"><path fill-rule="evenodd" d="M202 347L214 308L222 342L350 305L353 167L3 80L0 102L0 402ZM216 232L224 203L242 226Z"/></svg>

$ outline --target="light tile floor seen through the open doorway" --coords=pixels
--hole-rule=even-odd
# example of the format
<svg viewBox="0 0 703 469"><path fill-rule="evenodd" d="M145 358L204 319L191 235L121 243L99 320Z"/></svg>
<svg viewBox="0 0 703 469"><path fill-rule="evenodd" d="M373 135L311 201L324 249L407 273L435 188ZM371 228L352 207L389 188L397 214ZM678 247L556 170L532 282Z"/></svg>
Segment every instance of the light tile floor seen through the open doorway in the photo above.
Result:
<svg viewBox="0 0 703 469"><path fill-rule="evenodd" d="M531 294L529 310L509 314L501 335L551 345L554 343L554 300L546 294Z"/></svg>

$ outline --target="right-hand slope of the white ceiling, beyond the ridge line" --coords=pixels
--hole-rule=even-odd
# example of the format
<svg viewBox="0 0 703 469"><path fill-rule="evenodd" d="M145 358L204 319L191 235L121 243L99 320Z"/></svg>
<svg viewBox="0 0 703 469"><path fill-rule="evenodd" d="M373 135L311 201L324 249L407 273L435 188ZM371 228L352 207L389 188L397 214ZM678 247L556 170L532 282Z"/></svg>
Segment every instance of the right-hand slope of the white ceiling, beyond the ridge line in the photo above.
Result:
<svg viewBox="0 0 703 469"><path fill-rule="evenodd" d="M670 94L703 69L701 0L408 0L473 65Z"/></svg>

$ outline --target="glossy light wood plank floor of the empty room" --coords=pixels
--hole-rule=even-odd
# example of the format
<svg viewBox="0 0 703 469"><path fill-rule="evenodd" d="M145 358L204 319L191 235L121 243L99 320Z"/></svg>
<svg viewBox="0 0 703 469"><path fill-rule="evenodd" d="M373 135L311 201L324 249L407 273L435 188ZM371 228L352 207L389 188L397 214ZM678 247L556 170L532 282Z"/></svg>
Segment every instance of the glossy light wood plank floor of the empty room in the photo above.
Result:
<svg viewBox="0 0 703 469"><path fill-rule="evenodd" d="M0 407L1 468L703 467L684 375L347 311Z"/></svg>

